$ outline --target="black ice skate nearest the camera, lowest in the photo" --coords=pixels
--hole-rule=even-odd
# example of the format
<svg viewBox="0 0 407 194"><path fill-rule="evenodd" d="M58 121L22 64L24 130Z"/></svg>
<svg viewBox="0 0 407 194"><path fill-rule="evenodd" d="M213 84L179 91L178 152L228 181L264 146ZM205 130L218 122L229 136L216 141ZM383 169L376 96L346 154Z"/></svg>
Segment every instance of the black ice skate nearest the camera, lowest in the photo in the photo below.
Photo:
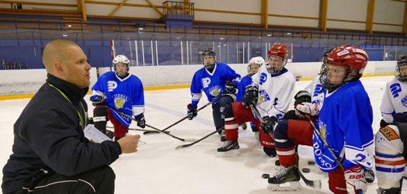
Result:
<svg viewBox="0 0 407 194"><path fill-rule="evenodd" d="M301 189L299 184L299 170L292 165L283 168L276 172L273 177L269 177L268 189L271 191L297 191ZM289 183L290 186L281 186L281 184Z"/></svg>

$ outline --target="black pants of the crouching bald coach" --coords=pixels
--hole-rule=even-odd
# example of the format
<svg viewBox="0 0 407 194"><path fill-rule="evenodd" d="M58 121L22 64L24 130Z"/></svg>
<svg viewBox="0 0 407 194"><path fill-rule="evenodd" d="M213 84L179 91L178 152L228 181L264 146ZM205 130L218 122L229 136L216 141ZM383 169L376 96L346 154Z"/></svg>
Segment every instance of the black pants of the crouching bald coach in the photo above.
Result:
<svg viewBox="0 0 407 194"><path fill-rule="evenodd" d="M115 193L115 172L106 165L74 177L58 173L46 176L35 186L33 193ZM15 194L31 193L23 187Z"/></svg>

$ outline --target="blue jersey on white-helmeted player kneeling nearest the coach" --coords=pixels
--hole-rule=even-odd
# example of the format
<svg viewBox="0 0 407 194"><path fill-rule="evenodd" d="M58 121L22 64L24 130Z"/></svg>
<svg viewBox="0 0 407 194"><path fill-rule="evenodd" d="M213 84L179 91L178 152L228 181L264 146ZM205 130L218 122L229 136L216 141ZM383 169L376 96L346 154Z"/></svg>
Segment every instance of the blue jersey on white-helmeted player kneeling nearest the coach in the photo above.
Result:
<svg viewBox="0 0 407 194"><path fill-rule="evenodd" d="M120 115L119 112L126 115L144 113L144 88L140 79L135 75L129 74L121 79L115 72L106 72L92 87L91 98L95 95L105 99L106 106L126 127L131 124L131 119Z"/></svg>

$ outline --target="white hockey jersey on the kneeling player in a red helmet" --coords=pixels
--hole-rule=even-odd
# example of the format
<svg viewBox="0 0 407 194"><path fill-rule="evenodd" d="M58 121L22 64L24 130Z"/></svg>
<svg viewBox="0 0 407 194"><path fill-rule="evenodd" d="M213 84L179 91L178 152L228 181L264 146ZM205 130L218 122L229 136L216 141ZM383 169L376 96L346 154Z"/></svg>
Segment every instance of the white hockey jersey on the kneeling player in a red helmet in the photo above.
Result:
<svg viewBox="0 0 407 194"><path fill-rule="evenodd" d="M258 86L256 108L261 117L283 118L294 96L294 75L285 68L279 74L272 75L267 72L266 65L261 65L251 79L252 84Z"/></svg>

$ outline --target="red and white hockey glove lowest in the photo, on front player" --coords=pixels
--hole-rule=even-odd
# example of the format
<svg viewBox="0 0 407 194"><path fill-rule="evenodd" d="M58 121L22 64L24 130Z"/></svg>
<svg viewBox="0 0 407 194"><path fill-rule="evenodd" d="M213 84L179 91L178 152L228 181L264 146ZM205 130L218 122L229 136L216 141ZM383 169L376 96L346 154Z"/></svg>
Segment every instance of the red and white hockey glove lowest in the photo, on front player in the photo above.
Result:
<svg viewBox="0 0 407 194"><path fill-rule="evenodd" d="M366 192L367 184L365 180L365 171L361 165L355 165L352 168L344 170L344 179L347 182L347 192L358 194Z"/></svg>

